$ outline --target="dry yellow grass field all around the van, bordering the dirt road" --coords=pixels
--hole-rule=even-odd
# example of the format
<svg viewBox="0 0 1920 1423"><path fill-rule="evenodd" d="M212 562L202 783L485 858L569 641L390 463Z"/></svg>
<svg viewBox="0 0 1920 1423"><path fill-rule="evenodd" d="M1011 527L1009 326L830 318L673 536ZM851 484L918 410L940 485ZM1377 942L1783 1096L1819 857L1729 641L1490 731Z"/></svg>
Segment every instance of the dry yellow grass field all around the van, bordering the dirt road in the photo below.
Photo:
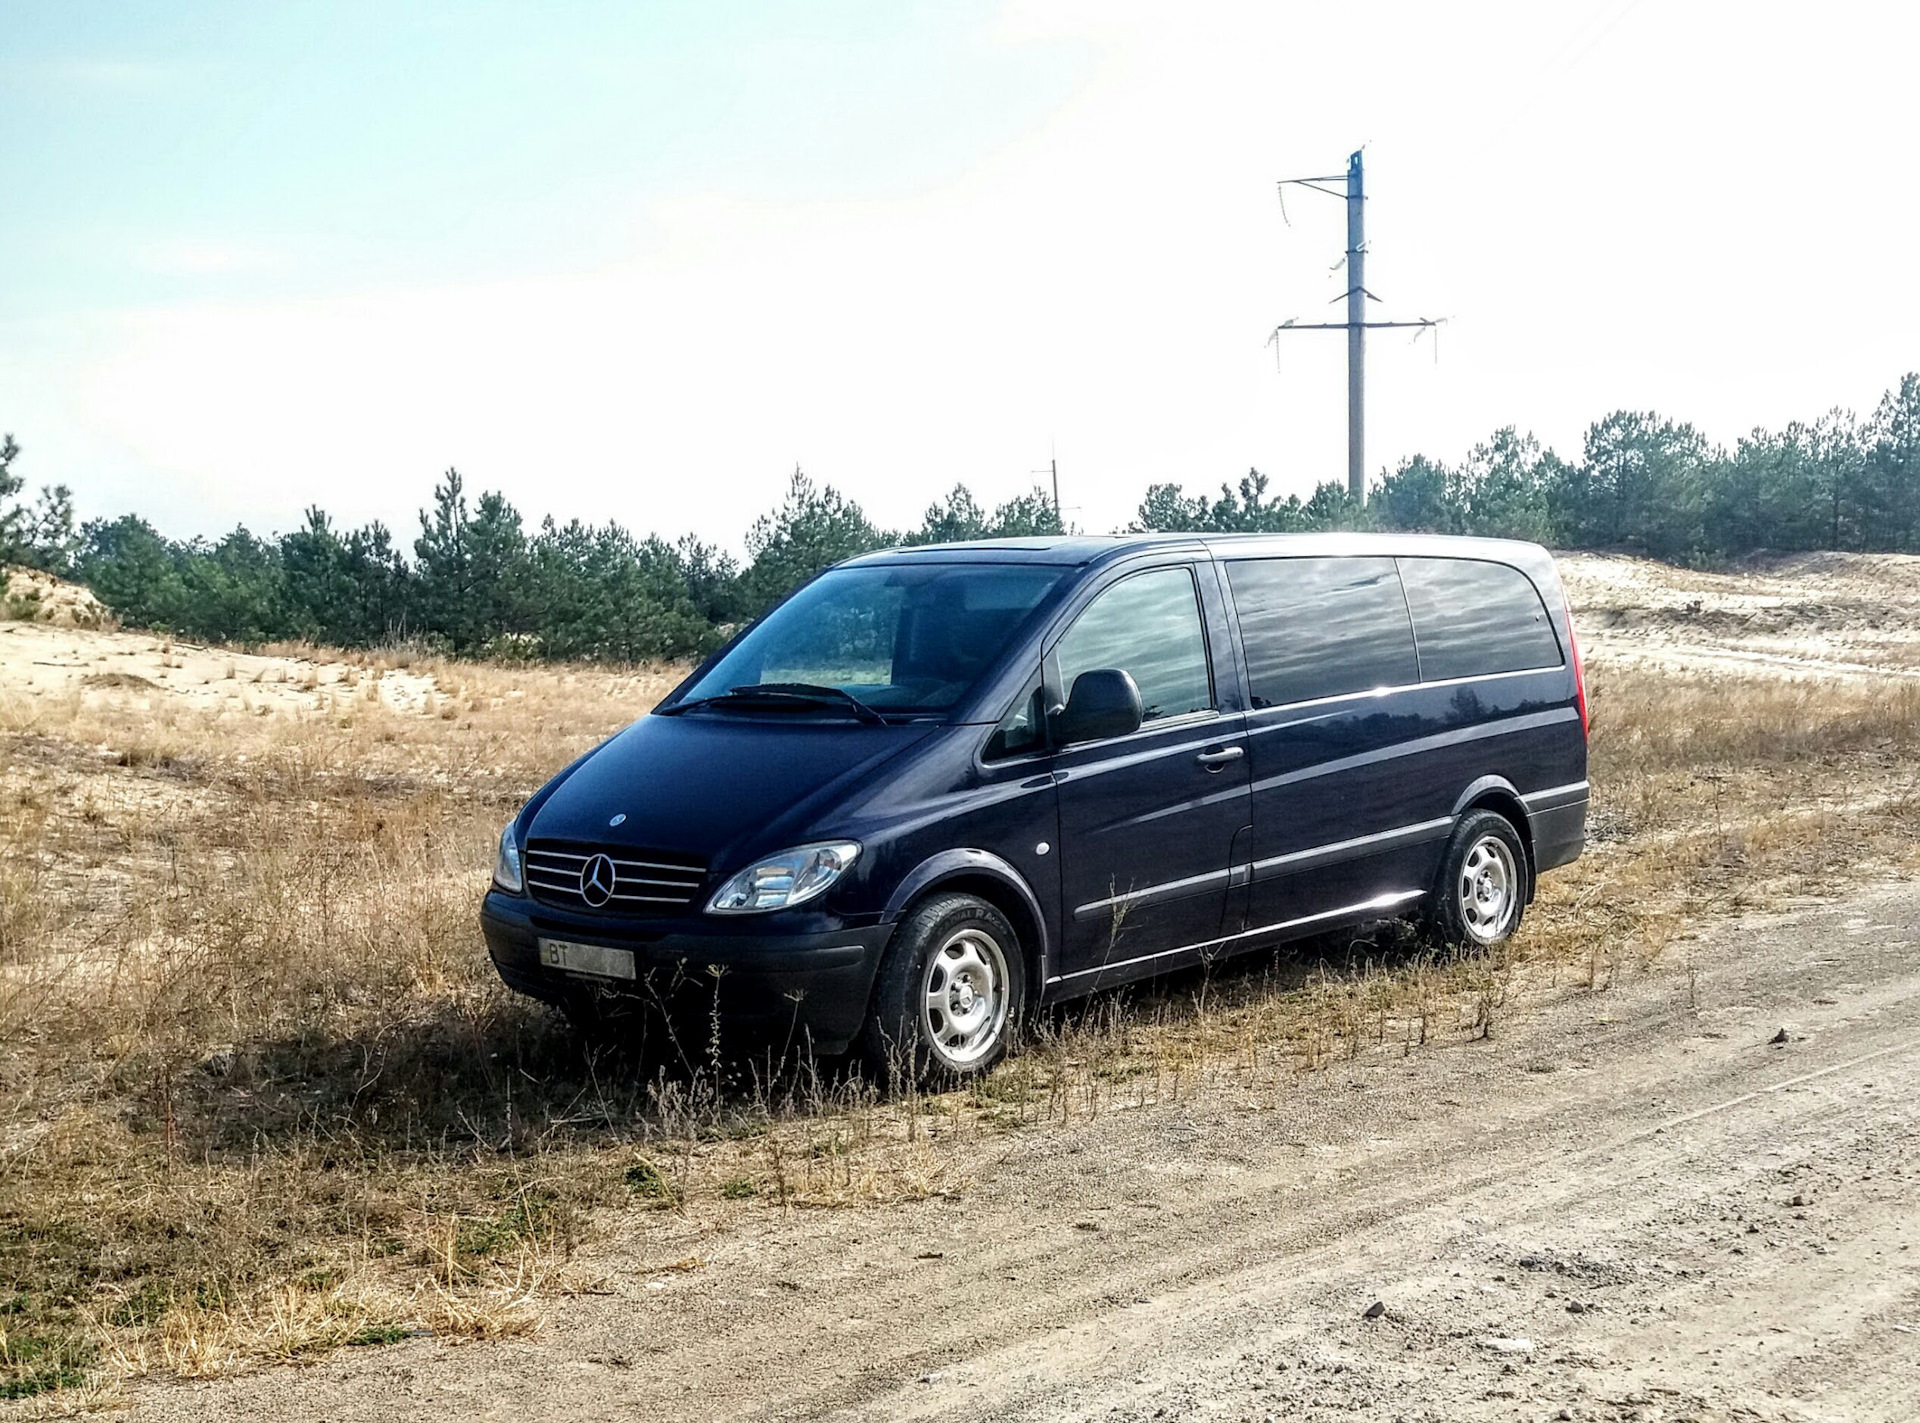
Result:
<svg viewBox="0 0 1920 1423"><path fill-rule="evenodd" d="M419 705L378 695L401 664ZM1375 935L1194 972L1056 1014L966 1091L881 1098L595 1056L493 979L497 826L672 670L349 672L265 712L0 697L0 1396L524 1333L655 1212L964 1191L1006 1133L1498 1033L1705 916L1907 864L1920 824L1910 680L1601 666L1596 843L1509 951Z"/></svg>

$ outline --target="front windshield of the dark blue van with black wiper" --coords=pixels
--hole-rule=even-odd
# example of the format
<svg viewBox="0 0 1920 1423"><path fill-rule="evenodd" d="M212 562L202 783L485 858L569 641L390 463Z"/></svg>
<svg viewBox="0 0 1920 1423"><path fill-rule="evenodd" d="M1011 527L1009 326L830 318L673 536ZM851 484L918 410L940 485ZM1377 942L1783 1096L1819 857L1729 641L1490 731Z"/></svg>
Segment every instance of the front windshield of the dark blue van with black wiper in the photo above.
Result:
<svg viewBox="0 0 1920 1423"><path fill-rule="evenodd" d="M768 613L682 703L735 687L837 687L879 712L950 711L1064 568L902 563L835 568Z"/></svg>

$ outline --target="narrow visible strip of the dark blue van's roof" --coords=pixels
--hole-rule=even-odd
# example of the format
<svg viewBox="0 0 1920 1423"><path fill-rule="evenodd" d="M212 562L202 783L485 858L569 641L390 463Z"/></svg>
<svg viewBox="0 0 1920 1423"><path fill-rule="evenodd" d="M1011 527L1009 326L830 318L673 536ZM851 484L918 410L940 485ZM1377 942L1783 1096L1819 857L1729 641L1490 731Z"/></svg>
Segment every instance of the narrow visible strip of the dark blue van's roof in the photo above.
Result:
<svg viewBox="0 0 1920 1423"><path fill-rule="evenodd" d="M943 563L1104 563L1142 549L1210 549L1221 559L1256 555L1452 555L1532 565L1549 559L1538 543L1503 538L1453 538L1448 534L1066 534L1050 538L983 538L970 543L922 543L879 549L847 559L847 565L935 559Z"/></svg>

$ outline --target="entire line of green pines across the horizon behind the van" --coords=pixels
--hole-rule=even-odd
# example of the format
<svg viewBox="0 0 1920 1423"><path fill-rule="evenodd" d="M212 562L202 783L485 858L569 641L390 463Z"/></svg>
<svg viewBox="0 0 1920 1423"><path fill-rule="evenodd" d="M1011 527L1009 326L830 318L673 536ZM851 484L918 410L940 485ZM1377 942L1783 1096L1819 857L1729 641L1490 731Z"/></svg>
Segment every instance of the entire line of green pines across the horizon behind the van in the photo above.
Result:
<svg viewBox="0 0 1920 1423"><path fill-rule="evenodd" d="M259 538L171 540L136 515L75 528L63 486L19 499L19 447L0 442L0 563L79 578L131 626L207 641L307 639L367 647L419 639L461 655L637 663L689 657L831 563L877 547L1060 532L1039 490L991 513L966 486L918 528L877 528L854 501L795 470L781 505L747 532L745 561L687 536L620 524L528 530L499 494L468 499L457 470L434 488L403 549L382 524L338 530L321 509ZM1868 419L1755 430L1732 449L1693 426L1620 411L1565 459L1515 428L1457 465L1415 455L1365 509L1342 484L1271 497L1250 470L1219 495L1146 490L1135 530L1396 528L1619 549L1674 563L1759 551L1920 551L1920 374Z"/></svg>

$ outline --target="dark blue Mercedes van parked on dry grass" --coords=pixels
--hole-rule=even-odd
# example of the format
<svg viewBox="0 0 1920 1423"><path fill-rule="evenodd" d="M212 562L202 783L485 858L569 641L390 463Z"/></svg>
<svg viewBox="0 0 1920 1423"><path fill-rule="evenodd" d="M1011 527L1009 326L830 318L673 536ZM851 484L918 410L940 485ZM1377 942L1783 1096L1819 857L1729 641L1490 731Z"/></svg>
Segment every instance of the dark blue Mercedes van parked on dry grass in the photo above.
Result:
<svg viewBox="0 0 1920 1423"><path fill-rule="evenodd" d="M1546 549L1058 538L851 559L507 826L501 977L876 1068L1346 924L1509 937L1580 855L1586 691ZM732 1029L730 1029L732 1031Z"/></svg>

